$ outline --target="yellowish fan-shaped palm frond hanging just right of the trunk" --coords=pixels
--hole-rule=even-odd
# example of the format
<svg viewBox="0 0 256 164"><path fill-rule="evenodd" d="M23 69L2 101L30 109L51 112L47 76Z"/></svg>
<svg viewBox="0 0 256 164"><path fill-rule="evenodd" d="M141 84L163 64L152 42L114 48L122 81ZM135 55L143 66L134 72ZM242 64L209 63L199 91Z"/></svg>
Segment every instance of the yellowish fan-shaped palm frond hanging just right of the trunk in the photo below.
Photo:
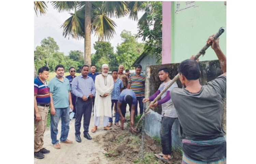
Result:
<svg viewBox="0 0 256 164"><path fill-rule="evenodd" d="M116 23L103 12L103 8L93 8L92 20L92 29L99 40L110 40L113 37Z"/></svg>

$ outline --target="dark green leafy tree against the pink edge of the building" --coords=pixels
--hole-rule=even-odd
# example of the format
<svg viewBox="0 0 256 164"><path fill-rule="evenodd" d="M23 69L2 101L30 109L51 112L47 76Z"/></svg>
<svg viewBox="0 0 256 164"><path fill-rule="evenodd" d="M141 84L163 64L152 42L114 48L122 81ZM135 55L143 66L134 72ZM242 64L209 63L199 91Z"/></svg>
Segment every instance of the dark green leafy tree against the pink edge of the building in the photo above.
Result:
<svg viewBox="0 0 256 164"><path fill-rule="evenodd" d="M162 2L143 2L141 8L145 14L139 20L137 37L146 39L144 53L156 55L157 63L161 63L162 53Z"/></svg>

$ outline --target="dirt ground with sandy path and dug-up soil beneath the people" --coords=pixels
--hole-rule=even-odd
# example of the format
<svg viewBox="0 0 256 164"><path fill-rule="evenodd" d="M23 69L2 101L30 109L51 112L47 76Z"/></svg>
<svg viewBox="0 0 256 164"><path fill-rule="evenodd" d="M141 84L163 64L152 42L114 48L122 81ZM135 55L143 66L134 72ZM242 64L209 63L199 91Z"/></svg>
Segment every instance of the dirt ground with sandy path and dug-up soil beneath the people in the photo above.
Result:
<svg viewBox="0 0 256 164"><path fill-rule="evenodd" d="M139 109L139 108L138 108ZM70 121L70 129L68 139L73 141L73 144L60 143L60 149L54 149L51 143L50 127L46 128L44 133L44 147L51 152L45 154L45 158L34 158L35 164L163 164L163 162L155 158L155 153L161 152L160 138L150 138L144 135L144 158L141 160L141 131L137 134L131 133L129 107L127 106L125 129L112 125L112 130L103 130L102 118L101 124L95 133L90 130L94 126L93 114L91 115L89 134L93 140L87 140L83 137L83 118L81 124L81 139L82 142L75 141L75 119ZM114 120L115 117L113 117ZM136 117L134 125L139 120ZM58 124L57 139L60 138L61 120ZM104 151L103 151L104 150ZM105 153L104 153L105 152ZM180 164L182 161L181 152L173 151L173 159L169 163Z"/></svg>

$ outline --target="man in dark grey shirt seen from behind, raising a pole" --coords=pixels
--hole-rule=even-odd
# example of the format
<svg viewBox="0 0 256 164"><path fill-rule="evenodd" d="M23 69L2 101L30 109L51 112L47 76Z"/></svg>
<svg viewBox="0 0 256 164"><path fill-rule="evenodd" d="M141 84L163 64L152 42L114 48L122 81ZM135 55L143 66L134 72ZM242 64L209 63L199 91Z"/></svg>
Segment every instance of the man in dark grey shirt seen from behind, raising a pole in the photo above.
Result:
<svg viewBox="0 0 256 164"><path fill-rule="evenodd" d="M201 86L199 63L191 59L181 62L180 80L185 88L173 88L170 96L180 120L183 163L226 163L226 139L222 128L223 99L226 95L226 57L219 39L212 42L223 74Z"/></svg>

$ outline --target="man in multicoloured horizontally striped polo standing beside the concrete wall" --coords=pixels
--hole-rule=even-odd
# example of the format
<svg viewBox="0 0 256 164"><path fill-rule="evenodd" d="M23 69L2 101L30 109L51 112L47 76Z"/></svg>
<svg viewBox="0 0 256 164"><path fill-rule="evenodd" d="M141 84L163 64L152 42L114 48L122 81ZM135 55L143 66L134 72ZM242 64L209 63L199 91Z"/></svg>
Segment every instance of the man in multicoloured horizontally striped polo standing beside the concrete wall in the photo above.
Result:
<svg viewBox="0 0 256 164"><path fill-rule="evenodd" d="M130 74L130 78L128 80L128 89L131 89L139 102L140 106L140 114L143 113L143 98L145 98L145 74L141 73L142 67L141 65L137 65L135 67L135 73ZM138 114L138 105L136 105L135 115Z"/></svg>

